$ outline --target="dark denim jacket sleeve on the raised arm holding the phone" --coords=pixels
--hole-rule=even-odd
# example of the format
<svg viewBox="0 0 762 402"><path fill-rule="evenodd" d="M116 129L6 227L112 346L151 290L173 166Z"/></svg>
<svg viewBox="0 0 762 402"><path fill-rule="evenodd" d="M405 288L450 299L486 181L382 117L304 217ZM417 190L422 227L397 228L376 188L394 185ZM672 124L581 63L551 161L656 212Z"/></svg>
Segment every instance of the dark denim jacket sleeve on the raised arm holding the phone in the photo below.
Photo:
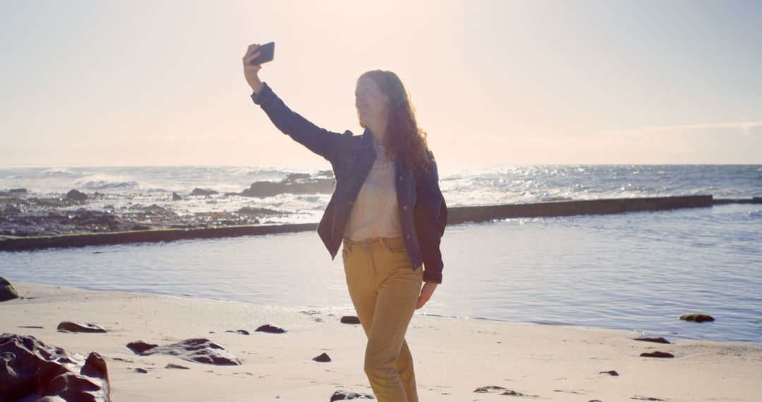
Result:
<svg viewBox="0 0 762 402"><path fill-rule="evenodd" d="M349 130L344 134L339 134L310 123L299 113L290 110L267 85L267 82L264 82L264 86L258 94L251 94L251 101L260 105L264 113L267 113L270 120L283 134L287 134L299 144L306 146L310 151L331 163L336 160L335 157L338 154L342 137L352 135Z"/></svg>

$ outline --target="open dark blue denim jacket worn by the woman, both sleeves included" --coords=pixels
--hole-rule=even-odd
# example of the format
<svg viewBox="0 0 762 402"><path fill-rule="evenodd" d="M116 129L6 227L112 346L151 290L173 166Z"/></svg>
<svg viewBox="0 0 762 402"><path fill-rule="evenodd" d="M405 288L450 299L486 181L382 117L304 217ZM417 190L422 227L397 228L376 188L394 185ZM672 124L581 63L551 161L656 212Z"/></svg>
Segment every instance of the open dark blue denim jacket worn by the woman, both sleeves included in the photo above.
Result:
<svg viewBox="0 0 762 402"><path fill-rule="evenodd" d="M261 106L277 129L331 162L336 188L318 225L318 235L331 260L335 259L352 204L376 160L370 130L365 129L362 136L353 136L349 130L341 134L321 129L290 110L267 83L258 94L251 94L251 100ZM431 151L428 168L430 174L418 177L395 161L397 207L412 269L423 266L424 282L441 283L443 263L439 246L447 225L447 204L439 188L437 162Z"/></svg>

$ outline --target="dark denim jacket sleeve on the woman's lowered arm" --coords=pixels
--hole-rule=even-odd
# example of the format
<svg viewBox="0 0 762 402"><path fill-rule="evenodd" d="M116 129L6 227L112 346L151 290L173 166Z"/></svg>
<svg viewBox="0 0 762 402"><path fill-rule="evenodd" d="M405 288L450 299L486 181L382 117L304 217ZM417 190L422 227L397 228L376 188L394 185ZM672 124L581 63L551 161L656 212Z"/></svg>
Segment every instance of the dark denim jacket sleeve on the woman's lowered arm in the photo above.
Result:
<svg viewBox="0 0 762 402"><path fill-rule="evenodd" d="M440 251L440 238L442 236L444 222L441 214L443 196L439 188L439 172L434 154L429 152L431 164L430 173L418 177L416 180L417 200L415 203L415 230L418 234L418 243L421 244L421 254L424 260L424 282L442 283L442 253ZM445 207L446 208L446 207Z"/></svg>

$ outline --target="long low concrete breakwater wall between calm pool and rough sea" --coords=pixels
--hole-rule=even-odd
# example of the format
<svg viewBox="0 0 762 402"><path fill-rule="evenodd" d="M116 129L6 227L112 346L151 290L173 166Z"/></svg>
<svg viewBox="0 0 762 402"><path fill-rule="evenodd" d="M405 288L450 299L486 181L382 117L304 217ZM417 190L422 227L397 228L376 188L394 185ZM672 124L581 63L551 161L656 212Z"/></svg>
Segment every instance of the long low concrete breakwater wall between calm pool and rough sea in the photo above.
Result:
<svg viewBox="0 0 762 402"><path fill-rule="evenodd" d="M752 199L713 199L711 195L666 196L590 199L498 206L459 206L448 209L447 224L458 225L467 222L488 222L495 219L602 215L678 208L702 208L726 203L762 203L762 197L754 197ZM5 237L0 239L0 251L35 250L52 247L84 247L91 245L173 241L193 238L227 238L245 235L269 235L297 231L315 231L317 227L318 225L316 223L304 223L121 231L85 235Z"/></svg>

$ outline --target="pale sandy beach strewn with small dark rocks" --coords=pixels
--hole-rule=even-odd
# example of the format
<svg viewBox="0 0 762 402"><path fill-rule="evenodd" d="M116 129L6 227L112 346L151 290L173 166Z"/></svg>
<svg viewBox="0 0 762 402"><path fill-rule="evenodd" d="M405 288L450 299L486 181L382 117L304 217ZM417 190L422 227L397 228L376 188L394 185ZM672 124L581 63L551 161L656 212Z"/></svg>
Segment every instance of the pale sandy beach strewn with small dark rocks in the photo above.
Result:
<svg viewBox="0 0 762 402"><path fill-rule="evenodd" d="M363 373L363 331L340 322L354 311L13 285L22 298L0 303L0 332L32 335L85 356L100 353L113 400L327 401L339 390L372 394ZM98 324L107 333L58 332L61 321ZM255 332L263 324L287 332ZM505 400L507 391L527 400L760 400L762 347L633 340L638 336L416 315L406 339L421 400ZM139 356L126 347L136 340L165 345L189 338L212 340L242 364ZM674 358L640 357L654 351ZM312 360L322 353L331 362ZM189 369L165 368L169 363ZM505 389L475 392L490 386Z"/></svg>

